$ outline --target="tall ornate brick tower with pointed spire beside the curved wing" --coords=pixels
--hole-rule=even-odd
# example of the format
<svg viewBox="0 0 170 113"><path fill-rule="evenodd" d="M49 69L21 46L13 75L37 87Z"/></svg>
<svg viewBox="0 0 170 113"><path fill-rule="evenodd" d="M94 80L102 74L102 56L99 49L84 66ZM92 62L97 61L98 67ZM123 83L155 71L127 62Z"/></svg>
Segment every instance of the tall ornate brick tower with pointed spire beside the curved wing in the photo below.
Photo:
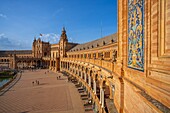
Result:
<svg viewBox="0 0 170 113"><path fill-rule="evenodd" d="M62 34L59 41L59 47L60 47L60 57L66 57L66 45L68 43L66 30L63 27Z"/></svg>

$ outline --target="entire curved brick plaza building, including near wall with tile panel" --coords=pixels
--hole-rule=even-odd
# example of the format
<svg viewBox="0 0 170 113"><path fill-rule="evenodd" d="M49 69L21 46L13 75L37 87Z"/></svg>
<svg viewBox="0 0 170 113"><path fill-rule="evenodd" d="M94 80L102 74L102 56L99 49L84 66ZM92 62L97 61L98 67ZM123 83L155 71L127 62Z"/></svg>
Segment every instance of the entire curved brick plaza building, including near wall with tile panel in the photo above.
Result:
<svg viewBox="0 0 170 113"><path fill-rule="evenodd" d="M63 72L87 92L96 113L170 112L170 1L118 0L118 32L70 43L34 39L32 50L0 51L1 65Z"/></svg>

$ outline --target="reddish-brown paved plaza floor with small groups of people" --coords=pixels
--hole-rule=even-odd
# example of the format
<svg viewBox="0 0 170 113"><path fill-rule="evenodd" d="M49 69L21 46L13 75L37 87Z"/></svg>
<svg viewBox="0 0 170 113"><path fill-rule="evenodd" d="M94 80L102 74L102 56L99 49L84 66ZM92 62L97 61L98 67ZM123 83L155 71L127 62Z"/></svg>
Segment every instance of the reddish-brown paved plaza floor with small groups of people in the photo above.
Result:
<svg viewBox="0 0 170 113"><path fill-rule="evenodd" d="M84 113L74 84L67 82L61 73L45 74L46 71L25 71L13 87L0 96L0 113ZM57 80L59 75L61 80Z"/></svg>

